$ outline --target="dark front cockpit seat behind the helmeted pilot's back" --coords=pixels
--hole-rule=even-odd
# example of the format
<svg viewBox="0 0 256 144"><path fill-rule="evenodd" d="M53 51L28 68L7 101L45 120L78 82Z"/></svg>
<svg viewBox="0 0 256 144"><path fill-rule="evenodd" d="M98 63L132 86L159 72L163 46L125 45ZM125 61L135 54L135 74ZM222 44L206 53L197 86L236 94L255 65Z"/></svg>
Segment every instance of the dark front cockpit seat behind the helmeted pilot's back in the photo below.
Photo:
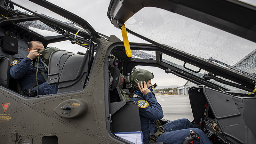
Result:
<svg viewBox="0 0 256 144"><path fill-rule="evenodd" d="M109 66L109 95L110 95L110 113L112 119L112 132L139 132L140 115L139 108L134 101L130 101L130 93L124 88L124 75L120 73L117 67ZM135 121L136 123L132 123Z"/></svg>

